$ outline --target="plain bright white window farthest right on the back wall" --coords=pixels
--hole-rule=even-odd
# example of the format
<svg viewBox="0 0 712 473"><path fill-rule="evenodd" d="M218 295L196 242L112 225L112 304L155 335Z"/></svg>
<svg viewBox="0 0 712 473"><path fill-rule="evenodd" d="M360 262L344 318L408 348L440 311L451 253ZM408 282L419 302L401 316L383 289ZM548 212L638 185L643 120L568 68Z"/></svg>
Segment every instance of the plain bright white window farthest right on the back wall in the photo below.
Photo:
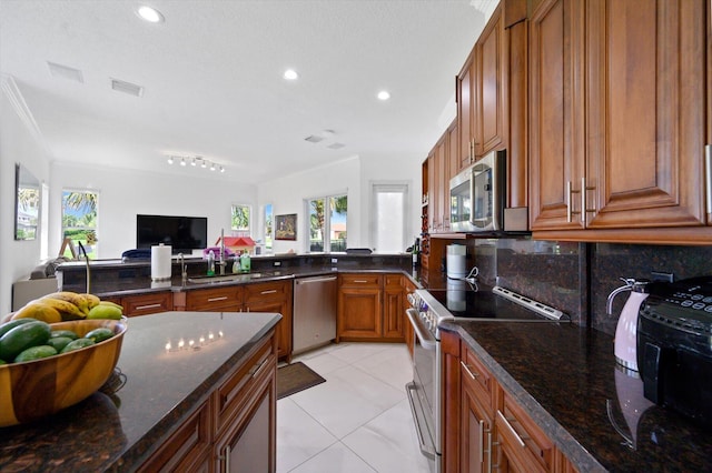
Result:
<svg viewBox="0 0 712 473"><path fill-rule="evenodd" d="M407 183L372 183L370 238L376 251L393 253L405 251L409 225L407 219Z"/></svg>

